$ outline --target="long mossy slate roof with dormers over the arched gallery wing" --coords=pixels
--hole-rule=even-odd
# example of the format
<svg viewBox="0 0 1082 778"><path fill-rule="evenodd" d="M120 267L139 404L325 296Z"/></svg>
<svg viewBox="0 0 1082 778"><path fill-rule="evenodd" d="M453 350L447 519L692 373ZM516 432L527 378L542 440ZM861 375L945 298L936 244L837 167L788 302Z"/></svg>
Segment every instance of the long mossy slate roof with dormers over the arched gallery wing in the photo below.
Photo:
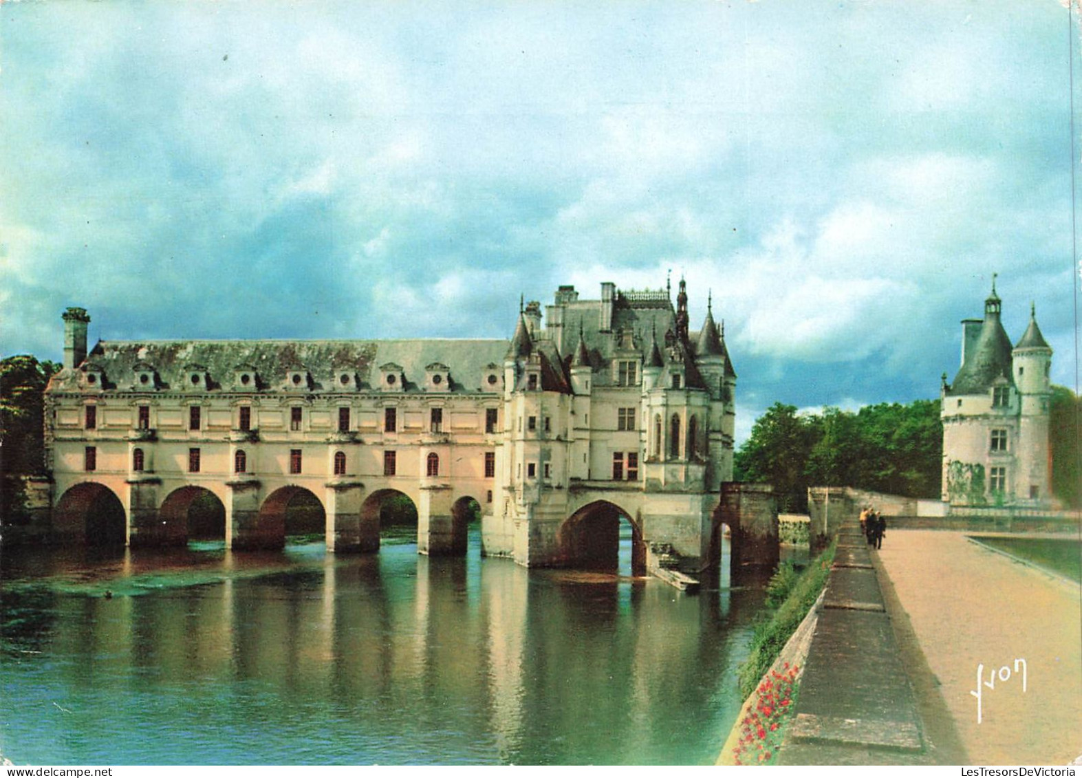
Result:
<svg viewBox="0 0 1082 778"><path fill-rule="evenodd" d="M127 390L136 365L148 365L157 374L160 391L184 387L188 367L198 365L209 374L208 388L230 391L238 369L254 370L259 388L283 385L287 371L303 368L311 374L311 390L337 391L341 371L356 375L359 385L379 384L379 366L401 366L405 391L420 391L425 368L443 364L449 368L449 390L478 392L490 366L502 362L506 340L417 339L384 341L100 341L84 366L104 372L104 388ZM64 370L49 391L77 391L76 371Z"/></svg>

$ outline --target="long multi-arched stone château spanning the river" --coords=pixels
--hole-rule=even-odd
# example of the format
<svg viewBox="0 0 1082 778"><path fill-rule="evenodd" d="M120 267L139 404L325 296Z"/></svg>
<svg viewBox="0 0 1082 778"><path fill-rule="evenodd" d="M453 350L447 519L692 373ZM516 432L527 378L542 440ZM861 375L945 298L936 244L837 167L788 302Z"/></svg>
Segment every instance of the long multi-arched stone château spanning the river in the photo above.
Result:
<svg viewBox="0 0 1082 778"><path fill-rule="evenodd" d="M379 548L393 495L422 553L633 568L716 559L731 478L736 372L708 303L687 291L563 286L522 308L511 340L100 341L64 314L45 391L52 535L184 542L196 501L221 503L232 549L279 548L290 505L318 501L331 551ZM544 324L542 326L542 318ZM211 497L213 496L213 497ZM313 503L314 504L314 503ZM476 510L476 509L474 509Z"/></svg>

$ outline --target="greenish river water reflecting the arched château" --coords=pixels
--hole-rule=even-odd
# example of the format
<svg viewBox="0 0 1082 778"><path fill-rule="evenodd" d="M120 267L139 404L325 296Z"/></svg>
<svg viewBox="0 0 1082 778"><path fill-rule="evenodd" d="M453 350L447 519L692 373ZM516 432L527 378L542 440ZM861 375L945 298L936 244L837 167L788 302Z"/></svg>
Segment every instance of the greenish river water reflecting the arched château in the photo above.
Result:
<svg viewBox="0 0 1082 778"><path fill-rule="evenodd" d="M624 550L624 557L630 552ZM727 553L723 558L727 563ZM481 558L16 550L0 557L15 764L712 764L762 578ZM741 584L741 585L736 585Z"/></svg>

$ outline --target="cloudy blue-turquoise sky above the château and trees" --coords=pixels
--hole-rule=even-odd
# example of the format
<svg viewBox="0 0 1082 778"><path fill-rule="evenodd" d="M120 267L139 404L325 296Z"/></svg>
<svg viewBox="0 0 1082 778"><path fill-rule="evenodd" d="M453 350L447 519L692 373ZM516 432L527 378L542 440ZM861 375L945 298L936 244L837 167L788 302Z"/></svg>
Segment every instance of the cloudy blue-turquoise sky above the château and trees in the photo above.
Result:
<svg viewBox="0 0 1082 778"><path fill-rule="evenodd" d="M0 356L510 338L688 282L738 441L935 398L998 273L1076 387L1060 0L0 3ZM1082 123L1080 123L1082 126Z"/></svg>

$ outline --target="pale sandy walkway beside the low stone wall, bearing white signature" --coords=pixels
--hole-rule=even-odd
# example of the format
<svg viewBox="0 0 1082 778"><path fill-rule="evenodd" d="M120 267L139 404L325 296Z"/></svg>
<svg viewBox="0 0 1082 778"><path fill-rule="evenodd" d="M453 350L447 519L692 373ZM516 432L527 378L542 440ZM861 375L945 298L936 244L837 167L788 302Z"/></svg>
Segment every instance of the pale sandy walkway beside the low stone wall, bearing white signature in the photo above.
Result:
<svg viewBox="0 0 1082 778"><path fill-rule="evenodd" d="M890 530L878 554L886 572L881 583L906 611L892 616L908 616L973 764L1063 765L1082 754L1077 584L991 552L962 532ZM977 698L969 693L978 688L980 664L985 684L994 688L980 686L978 724Z"/></svg>

